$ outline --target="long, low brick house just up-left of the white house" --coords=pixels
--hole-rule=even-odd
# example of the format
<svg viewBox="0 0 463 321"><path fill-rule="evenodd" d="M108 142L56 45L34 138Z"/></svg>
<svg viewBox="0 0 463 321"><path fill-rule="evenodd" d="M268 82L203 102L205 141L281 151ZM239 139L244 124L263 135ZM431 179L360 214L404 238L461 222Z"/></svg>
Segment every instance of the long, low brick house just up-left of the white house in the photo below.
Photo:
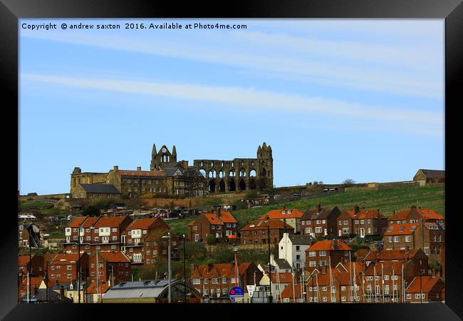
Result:
<svg viewBox="0 0 463 321"><path fill-rule="evenodd" d="M281 220L255 220L241 228L241 244L278 244L283 233L294 233L291 225Z"/></svg>

